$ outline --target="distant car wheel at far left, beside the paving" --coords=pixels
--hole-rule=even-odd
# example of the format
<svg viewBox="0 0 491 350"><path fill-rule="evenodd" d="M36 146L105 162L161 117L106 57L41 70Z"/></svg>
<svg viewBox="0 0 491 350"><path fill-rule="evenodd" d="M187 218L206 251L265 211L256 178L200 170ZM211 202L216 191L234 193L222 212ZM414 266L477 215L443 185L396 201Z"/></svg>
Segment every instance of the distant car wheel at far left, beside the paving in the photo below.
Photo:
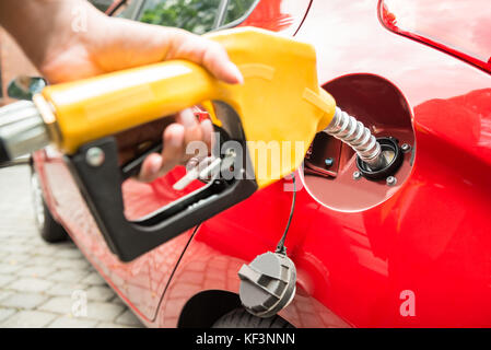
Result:
<svg viewBox="0 0 491 350"><path fill-rule="evenodd" d="M34 207L34 221L36 222L40 237L47 243L67 240L67 232L52 218L48 206L46 206L43 190L40 189L39 176L33 168L31 170L31 192Z"/></svg>

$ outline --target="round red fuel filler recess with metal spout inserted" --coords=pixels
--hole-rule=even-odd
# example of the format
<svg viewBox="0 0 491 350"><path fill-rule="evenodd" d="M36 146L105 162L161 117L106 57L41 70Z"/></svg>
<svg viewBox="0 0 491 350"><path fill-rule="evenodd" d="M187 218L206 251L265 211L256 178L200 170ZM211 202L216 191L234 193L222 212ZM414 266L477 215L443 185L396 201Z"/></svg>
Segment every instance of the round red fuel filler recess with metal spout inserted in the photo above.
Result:
<svg viewBox="0 0 491 350"><path fill-rule="evenodd" d="M373 208L397 194L412 174L418 148L411 108L402 92L379 75L342 75L323 88L335 97L339 120L316 135L300 179L323 207L344 212Z"/></svg>

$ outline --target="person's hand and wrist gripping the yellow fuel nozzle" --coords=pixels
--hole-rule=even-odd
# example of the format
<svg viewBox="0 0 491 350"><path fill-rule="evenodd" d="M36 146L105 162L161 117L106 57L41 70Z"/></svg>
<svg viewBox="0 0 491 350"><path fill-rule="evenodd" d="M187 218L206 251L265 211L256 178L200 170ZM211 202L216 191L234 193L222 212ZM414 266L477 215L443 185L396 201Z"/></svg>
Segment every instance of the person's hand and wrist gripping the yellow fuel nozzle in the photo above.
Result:
<svg viewBox="0 0 491 350"><path fill-rule="evenodd" d="M203 66L226 83L243 82L221 45L183 30L107 18L81 0L30 0L22 7L19 2L0 2L0 24L50 83L178 58ZM71 26L75 5L85 9L86 31L74 32ZM2 11L9 15L2 18ZM147 158L139 179L151 182L187 161L188 142L203 141L210 147L212 130L210 120L198 122L190 109L178 114L163 132L162 154Z"/></svg>

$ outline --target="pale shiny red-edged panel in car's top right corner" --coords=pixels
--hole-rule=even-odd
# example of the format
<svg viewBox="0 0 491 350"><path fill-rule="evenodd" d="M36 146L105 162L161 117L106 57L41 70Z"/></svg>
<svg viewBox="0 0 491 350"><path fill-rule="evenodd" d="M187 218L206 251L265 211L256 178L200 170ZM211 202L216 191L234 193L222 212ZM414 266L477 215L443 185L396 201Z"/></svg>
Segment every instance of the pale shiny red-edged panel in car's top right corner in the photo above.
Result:
<svg viewBox="0 0 491 350"><path fill-rule="evenodd" d="M464 19L463 13L470 14ZM383 0L383 24L400 35L491 71L491 7L488 0Z"/></svg>

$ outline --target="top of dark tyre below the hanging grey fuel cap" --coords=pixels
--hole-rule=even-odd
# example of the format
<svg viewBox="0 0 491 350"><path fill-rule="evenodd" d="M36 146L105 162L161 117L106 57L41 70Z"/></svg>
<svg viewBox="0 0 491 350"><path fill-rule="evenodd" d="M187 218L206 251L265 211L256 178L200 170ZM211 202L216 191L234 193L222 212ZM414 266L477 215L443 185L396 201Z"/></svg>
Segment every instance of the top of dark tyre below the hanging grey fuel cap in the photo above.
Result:
<svg viewBox="0 0 491 350"><path fill-rule="evenodd" d="M244 308L235 308L220 317L212 328L293 328L293 326L278 315L261 318Z"/></svg>

